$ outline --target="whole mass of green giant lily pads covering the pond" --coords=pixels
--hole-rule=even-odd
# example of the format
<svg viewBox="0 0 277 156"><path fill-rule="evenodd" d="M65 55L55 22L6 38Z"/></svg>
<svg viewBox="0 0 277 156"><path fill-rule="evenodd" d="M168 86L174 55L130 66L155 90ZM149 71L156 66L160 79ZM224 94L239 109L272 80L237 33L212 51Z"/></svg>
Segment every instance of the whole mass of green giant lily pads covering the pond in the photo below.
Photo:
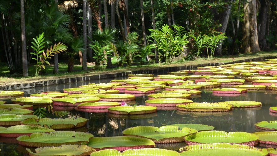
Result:
<svg viewBox="0 0 277 156"><path fill-rule="evenodd" d="M273 62L273 63L272 63ZM275 63L274 63L275 62ZM65 131L85 126L85 118L51 119L32 115L33 106L53 105L56 110L103 113L130 119L155 116L157 110L182 112L226 112L234 107L261 107L258 101L193 102L201 88L214 96L237 96L249 91L277 90L277 59L199 67L197 70L169 72L167 75L129 74L128 79L87 84L60 92L42 92L16 97L13 104L0 101L0 136L16 138L30 155L243 155L277 154L277 121L253 125L262 132L225 132L204 124L173 124L162 127L136 126L123 136L94 137L90 133ZM122 94L124 93L124 94ZM0 91L0 97L22 96L23 92ZM136 96L147 95L145 105L131 106ZM270 107L277 116L277 107ZM132 117L131 117L132 116ZM9 126L9 127L7 127ZM160 144L184 142L179 152L157 149ZM185 144L184 144L185 145Z"/></svg>

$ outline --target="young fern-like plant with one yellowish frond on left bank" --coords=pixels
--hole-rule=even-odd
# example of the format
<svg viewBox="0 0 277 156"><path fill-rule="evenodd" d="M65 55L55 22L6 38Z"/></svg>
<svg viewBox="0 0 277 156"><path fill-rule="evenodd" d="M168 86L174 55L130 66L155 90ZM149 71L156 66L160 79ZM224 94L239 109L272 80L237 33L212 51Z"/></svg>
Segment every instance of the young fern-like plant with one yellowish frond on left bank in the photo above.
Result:
<svg viewBox="0 0 277 156"><path fill-rule="evenodd" d="M35 52L31 52L31 54L35 55L35 57L32 57L32 59L36 60L36 71L35 76L39 76L40 71L45 69L45 63L50 65L50 63L47 61L47 59L51 59L51 56L54 56L54 54L63 52L67 49L67 46L63 43L57 43L54 44L54 46L50 46L50 49L47 48L46 53L44 51L45 47L45 41L44 41L44 32L41 33L39 36L33 38L34 42L31 42L33 46L31 46Z"/></svg>

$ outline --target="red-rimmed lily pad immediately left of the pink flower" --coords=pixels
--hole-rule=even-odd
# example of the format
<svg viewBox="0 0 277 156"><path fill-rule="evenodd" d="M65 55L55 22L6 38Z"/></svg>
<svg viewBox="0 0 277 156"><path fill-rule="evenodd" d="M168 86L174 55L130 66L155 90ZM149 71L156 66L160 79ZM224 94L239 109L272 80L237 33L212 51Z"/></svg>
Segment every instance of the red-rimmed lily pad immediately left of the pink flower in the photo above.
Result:
<svg viewBox="0 0 277 156"><path fill-rule="evenodd" d="M112 101L85 102L77 107L81 109L107 109L115 106L120 106L120 103Z"/></svg>

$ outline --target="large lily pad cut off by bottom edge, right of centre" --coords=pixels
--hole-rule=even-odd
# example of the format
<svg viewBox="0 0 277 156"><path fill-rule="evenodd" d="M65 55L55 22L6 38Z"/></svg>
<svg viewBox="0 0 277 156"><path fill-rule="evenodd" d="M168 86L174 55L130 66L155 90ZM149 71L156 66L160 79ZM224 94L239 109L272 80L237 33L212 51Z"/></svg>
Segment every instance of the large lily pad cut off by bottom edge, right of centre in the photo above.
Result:
<svg viewBox="0 0 277 156"><path fill-rule="evenodd" d="M214 143L214 144L196 144L180 148L181 155L251 155L265 156L267 149L258 149L241 144Z"/></svg>

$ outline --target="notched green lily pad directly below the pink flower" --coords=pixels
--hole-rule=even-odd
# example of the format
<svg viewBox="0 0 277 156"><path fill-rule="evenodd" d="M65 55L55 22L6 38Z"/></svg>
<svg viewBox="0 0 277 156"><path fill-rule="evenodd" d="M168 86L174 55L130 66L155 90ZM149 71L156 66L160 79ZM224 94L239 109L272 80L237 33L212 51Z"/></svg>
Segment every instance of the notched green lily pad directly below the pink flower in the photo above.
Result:
<svg viewBox="0 0 277 156"><path fill-rule="evenodd" d="M157 112L157 107L138 105L133 106L116 106L108 108L109 113L120 114L120 115L137 115L137 114L148 114Z"/></svg>

